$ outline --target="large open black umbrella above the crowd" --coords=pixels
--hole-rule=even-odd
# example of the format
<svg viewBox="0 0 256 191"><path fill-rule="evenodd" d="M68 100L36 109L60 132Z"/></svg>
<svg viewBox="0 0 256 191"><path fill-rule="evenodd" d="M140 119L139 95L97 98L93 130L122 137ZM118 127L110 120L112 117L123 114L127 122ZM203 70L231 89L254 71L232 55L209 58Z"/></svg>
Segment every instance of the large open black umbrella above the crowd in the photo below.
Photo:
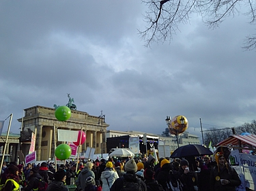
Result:
<svg viewBox="0 0 256 191"><path fill-rule="evenodd" d="M187 156L201 156L201 155L212 155L210 149L203 147L202 145L184 145L178 147L171 158L183 158Z"/></svg>

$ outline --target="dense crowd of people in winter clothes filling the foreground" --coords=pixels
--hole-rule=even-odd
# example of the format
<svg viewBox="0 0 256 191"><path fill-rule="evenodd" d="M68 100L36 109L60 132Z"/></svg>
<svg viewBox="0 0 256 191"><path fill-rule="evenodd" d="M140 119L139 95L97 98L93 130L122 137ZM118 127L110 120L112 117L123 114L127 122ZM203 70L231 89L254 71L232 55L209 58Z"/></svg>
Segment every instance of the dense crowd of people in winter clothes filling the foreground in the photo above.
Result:
<svg viewBox="0 0 256 191"><path fill-rule="evenodd" d="M41 191L40 181L46 183L45 191L68 191L67 185L76 191L162 191L162 190L236 190L241 184L236 171L222 153L197 158L160 158L154 156L127 158L126 160L94 160L80 162L76 171L74 162L55 167L53 163L23 166L11 162L3 164L1 190Z"/></svg>

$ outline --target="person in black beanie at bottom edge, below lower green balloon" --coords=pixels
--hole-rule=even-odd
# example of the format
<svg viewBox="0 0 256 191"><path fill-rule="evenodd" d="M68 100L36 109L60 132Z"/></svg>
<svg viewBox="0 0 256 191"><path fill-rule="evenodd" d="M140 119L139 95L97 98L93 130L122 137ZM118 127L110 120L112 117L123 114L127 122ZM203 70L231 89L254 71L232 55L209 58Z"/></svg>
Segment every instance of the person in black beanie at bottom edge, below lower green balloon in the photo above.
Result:
<svg viewBox="0 0 256 191"><path fill-rule="evenodd" d="M68 191L68 188L64 185L66 181L66 171L59 169L54 175L54 181L48 185L46 191Z"/></svg>

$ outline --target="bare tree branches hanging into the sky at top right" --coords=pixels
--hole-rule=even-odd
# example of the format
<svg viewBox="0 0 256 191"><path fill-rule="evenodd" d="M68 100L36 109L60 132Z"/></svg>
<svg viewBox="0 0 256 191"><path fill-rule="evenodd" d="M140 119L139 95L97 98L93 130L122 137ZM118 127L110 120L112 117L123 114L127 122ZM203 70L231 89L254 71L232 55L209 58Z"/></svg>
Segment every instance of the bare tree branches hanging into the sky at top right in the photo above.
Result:
<svg viewBox="0 0 256 191"><path fill-rule="evenodd" d="M145 13L145 22L148 24L139 34L145 39L145 46L153 41L171 41L173 34L179 30L178 24L187 23L192 14L200 14L203 22L210 28L218 27L228 16L246 14L250 23L255 23L256 8L253 0L142 0L149 9ZM240 7L246 7L242 12ZM244 49L256 48L256 34L246 37Z"/></svg>

